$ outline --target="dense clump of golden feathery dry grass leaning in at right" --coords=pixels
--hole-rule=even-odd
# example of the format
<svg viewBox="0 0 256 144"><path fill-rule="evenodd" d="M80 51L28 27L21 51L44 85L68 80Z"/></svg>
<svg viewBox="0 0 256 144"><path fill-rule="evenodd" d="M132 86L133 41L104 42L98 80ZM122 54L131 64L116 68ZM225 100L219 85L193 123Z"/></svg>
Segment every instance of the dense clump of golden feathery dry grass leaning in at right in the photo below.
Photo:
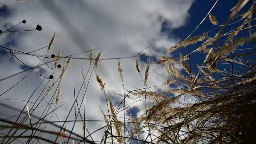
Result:
<svg viewBox="0 0 256 144"><path fill-rule="evenodd" d="M244 18L254 12L254 8L248 10L248 15L244 15ZM245 21L248 22L251 17L250 15ZM212 24L218 25L213 15L210 14L209 18ZM255 42L256 34L249 30L248 37L239 36L233 40L234 36L238 36L238 33L242 31L244 25L245 22L229 34L220 36L226 41L223 46L214 47L214 51L210 51L210 48L218 38L208 37L206 33L176 44L168 50L172 52L180 46L185 47L204 41L199 48L190 52L190 59L196 58L198 52L205 53L205 56L208 55L205 63L197 64L197 75L191 72L189 68L191 65L186 64L186 56L180 56L178 59L159 56L159 61L155 64L165 64L167 74L172 76L171 79L166 80L164 85L175 84L178 88L167 89L163 93L131 92L137 98L145 95L161 98L153 106L144 108L145 114L138 119L134 120L131 116L133 125L136 122L145 122L149 125L146 127L149 128L155 124L168 123L164 128L157 128L159 134L157 143L253 143L249 140L254 141L252 133L256 128L255 124L252 124L256 119L253 116L256 114L256 98L253 96L256 92L256 67L253 62L254 58L250 57L252 55L243 55L241 50L245 43ZM237 48L242 49L236 51ZM233 52L236 52L238 56L231 57L230 54ZM217 69L217 64L223 65L223 62L230 63L230 66ZM185 76L177 70L174 63L180 64L190 76ZM239 70L246 72L240 75L235 74ZM165 92L170 92L174 96L164 96ZM134 128L141 129L144 126L134 126ZM134 128L133 131L135 131ZM135 134L138 133L134 132Z"/></svg>

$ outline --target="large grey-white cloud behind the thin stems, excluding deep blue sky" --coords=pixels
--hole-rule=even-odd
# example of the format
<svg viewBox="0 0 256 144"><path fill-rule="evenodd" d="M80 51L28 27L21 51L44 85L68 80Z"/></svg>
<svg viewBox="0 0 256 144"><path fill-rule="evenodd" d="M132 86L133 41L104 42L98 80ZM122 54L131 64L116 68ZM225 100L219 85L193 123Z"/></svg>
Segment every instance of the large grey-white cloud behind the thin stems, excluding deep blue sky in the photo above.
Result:
<svg viewBox="0 0 256 144"><path fill-rule="evenodd" d="M145 52L149 56L164 54L163 50L167 50L174 45L176 40L168 39L167 36L160 34L163 18L169 20L172 25L170 28L178 28L184 25L186 18L189 16L188 9L193 0L27 0L26 2L15 2L10 0L2 0L0 4L7 4L12 8L13 14L5 20L1 20L0 28L4 23L8 22L12 25L25 19L27 24L20 24L18 28L34 29L36 24L42 25L42 31L22 32L22 35L16 47L11 47L20 51L33 51L38 48L47 46L54 32L56 32L55 42L57 45L52 46L52 50L48 55L56 54L61 50L62 56L75 54L90 50L92 48L102 48L102 58L114 58L124 56L134 56L141 50L146 48L154 40L154 47L147 49ZM0 37L1 44L4 44ZM94 51L94 56L99 50ZM45 54L46 49L35 52L35 54ZM35 66L40 62L36 57L17 55L25 64ZM88 58L88 54L81 54L76 57ZM10 62L8 55L1 65L1 76L4 78L17 72L20 72L20 62L13 58L14 62ZM66 60L62 60L62 65ZM124 87L128 90L143 88L143 80L135 70L134 58L121 59L124 71ZM49 65L53 66L53 65ZM89 68L88 60L75 60L71 62L66 74L61 82L61 98L59 104L64 104L60 109L56 110L59 118L64 120L72 103L74 102L74 86L76 94L82 84L81 66L83 66L84 74ZM142 77L144 77L145 63L140 62ZM47 66L43 66L50 70ZM90 69L91 72L92 69ZM152 66L150 70L165 73L164 66ZM57 79L60 70L56 70L54 80ZM90 74L89 72L89 74ZM122 81L117 73L117 60L101 60L97 68L99 76L106 82L106 91L123 93ZM3 92L21 80L27 72L14 76L8 80L0 82L0 90ZM52 72L50 72L52 74ZM89 78L89 76L88 76ZM88 78L85 83L87 84ZM41 82L35 72L25 78L20 84L12 90L0 97L0 99L23 99L28 100L33 90ZM39 90L33 96L35 100L48 80L45 80ZM52 84L50 80L48 86ZM151 71L148 86L160 86L164 82L163 78ZM44 90L45 91L45 90ZM82 100L83 89L80 93L79 100ZM51 93L53 94L53 93ZM49 95L50 98L52 95ZM81 101L78 100L78 104ZM122 100L122 98L118 98ZM135 100L126 100L126 104ZM17 107L23 107L24 102L8 101L8 104L15 104ZM43 102L45 104L45 102ZM59 105L58 104L58 105ZM95 74L92 73L88 89L86 91L86 115L90 120L102 120L99 104L106 112L106 102L104 95L100 92L100 87L95 80ZM142 106L143 102L136 102L134 106ZM53 108L53 106L52 106ZM83 114L83 105L82 111ZM120 113L124 116L124 112ZM127 115L128 117L128 115ZM69 119L74 118L74 110ZM52 120L56 120L54 116ZM72 128L72 124L68 123L68 128ZM80 125L81 126L81 125ZM96 130L104 123L88 122L90 132ZM81 127L75 127L75 131L81 134ZM94 134L95 139L101 138L100 134Z"/></svg>

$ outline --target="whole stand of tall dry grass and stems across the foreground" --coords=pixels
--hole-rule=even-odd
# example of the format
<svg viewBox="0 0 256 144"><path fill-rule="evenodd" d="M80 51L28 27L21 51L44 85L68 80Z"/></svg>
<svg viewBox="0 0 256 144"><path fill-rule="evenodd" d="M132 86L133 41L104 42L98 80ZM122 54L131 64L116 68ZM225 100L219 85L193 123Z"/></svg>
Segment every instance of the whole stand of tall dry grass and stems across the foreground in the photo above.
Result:
<svg viewBox="0 0 256 144"><path fill-rule="evenodd" d="M240 12L248 0L239 0L236 6L230 12L230 17L222 25L210 12L206 15L211 23L218 29L217 33L212 30L204 32L200 36L186 38L186 40L170 47L168 52L174 52L177 49L190 50L186 54L180 54L178 57L168 58L166 56L158 56L158 62L154 64L162 64L166 66L166 75L159 75L166 78L163 85L170 86L169 89L162 92L150 91L147 82L150 79L150 59L146 65L146 71L140 70L138 55L134 56L134 69L144 81L144 89L126 90L122 102L115 107L110 96L105 90L104 80L98 75L96 68L100 63L102 52L93 58L93 51L88 51L90 67L92 71L84 74L82 70L83 84L81 88L86 89L84 84L86 77L95 73L96 81L100 86L100 90L106 97L108 104L108 114L101 109L106 126L101 141L94 141L90 138L93 133L88 133L86 126L87 120L85 114L75 116L74 123L82 123L83 135L66 129L69 121L51 121L55 110L59 108L58 102L61 100L61 81L64 77L66 69L72 63L72 56L61 56L61 53L48 55L51 46L54 45L55 33L53 34L44 56L34 55L33 52L20 52L10 48L4 48L10 52L12 58L17 58L18 54L27 54L36 56L50 61L44 64L38 64L34 68L26 71L34 71L39 66L48 64L54 72L60 74L43 76L44 80L48 80L51 86L45 86L42 95L32 106L28 108L28 104L22 110L15 109L1 102L1 106L8 109L18 110L20 114L8 118L0 118L0 128L3 133L0 143L9 144L21 141L26 144L36 144L38 142L49 143L170 143L170 144L252 144L255 142L256 130L256 56L255 47L248 48L248 44L256 42L256 32L253 32L252 25L255 22L256 1L253 0L252 6ZM26 24L22 21L19 24ZM202 23L202 22L201 22ZM200 23L200 24L201 24ZM235 29L224 33L225 29L229 29L232 24L239 24ZM18 24L17 24L18 25ZM16 25L16 26L17 26ZM14 26L15 27L15 26ZM12 27L13 28L13 27ZM1 31L1 34L10 31L10 29ZM42 26L37 25L36 29L41 31ZM31 30L22 30L31 31ZM20 32L20 31L19 31ZM210 36L213 35L213 36ZM188 46L194 45L194 49ZM40 48L42 49L42 48ZM40 50L39 49L39 50ZM37 51L37 50L36 50ZM35 51L34 51L35 52ZM192 63L198 55L204 57L201 64ZM18 59L18 58L17 58ZM118 59L118 58L116 58ZM19 59L18 59L19 60ZM65 64L61 65L60 61L65 60ZM54 62L54 64L52 64ZM26 64L25 64L26 65ZM179 70L177 65L182 68ZM123 70L118 60L117 71L123 82ZM22 73L22 72L20 72ZM18 73L18 74L20 74ZM13 75L14 76L14 75ZM41 75L40 75L41 76ZM8 77L10 78L10 76ZM1 79L1 81L5 80ZM124 86L124 84L122 84ZM55 89L55 90L54 90ZM48 94L54 91L52 98L44 99ZM8 92L8 91L6 91ZM2 96L6 92L1 92ZM44 92L44 93L43 93ZM82 103L76 101L73 107L80 110ZM128 118L118 118L117 114L120 110L126 110L127 99L143 100L145 107L144 114L134 117L130 115ZM85 94L83 96L85 101ZM147 106L150 100L150 106ZM30 99L24 100L26 103L31 102ZM40 117L33 114L41 102L48 103L44 112ZM121 106L124 103L124 106ZM153 105L152 105L153 104ZM69 111L68 115L72 112ZM46 119L47 117L47 119ZM82 120L78 120L78 118ZM47 130L46 126L52 125L56 129L54 131ZM97 130L95 130L97 131ZM6 132L6 133L4 133ZM147 134L148 138L142 138L142 134Z"/></svg>

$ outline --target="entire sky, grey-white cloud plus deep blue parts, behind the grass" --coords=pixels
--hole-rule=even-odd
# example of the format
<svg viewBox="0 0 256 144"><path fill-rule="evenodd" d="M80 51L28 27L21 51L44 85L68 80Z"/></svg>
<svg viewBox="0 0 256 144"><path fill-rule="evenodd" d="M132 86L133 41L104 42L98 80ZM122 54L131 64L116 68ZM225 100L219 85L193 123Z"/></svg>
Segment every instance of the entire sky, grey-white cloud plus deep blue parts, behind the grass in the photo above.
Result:
<svg viewBox="0 0 256 144"><path fill-rule="evenodd" d="M237 0L220 0L211 14L216 16L219 23L224 23L230 14L229 10L236 2ZM48 55L57 55L58 51L61 51L62 56L68 56L88 51L90 48L100 48L93 51L94 57L102 50L102 58L120 58L136 56L148 47L139 56L140 70L143 77L148 57L151 58L152 62L156 62L157 56L177 58L180 52L182 54L188 53L188 49L177 50L171 54L166 53L166 51L180 40L184 40L201 22L214 3L215 0L26 0L26 2L1 0L1 30L4 31L18 24L20 21L26 20L27 24L19 24L12 30L31 30L35 29L36 25L39 24L42 26L42 31L5 33L0 36L0 46L22 52L32 52L47 46L53 34L56 32L54 43L58 44L52 46ZM191 36L200 35L214 27L207 17L198 30ZM190 51L194 50L194 47L189 48ZM41 61L37 57L28 55L16 55L19 60L16 57L10 59L10 53L3 53L3 51L4 49L0 48L0 79L26 70L27 66L36 66ZM34 52L34 54L44 55L46 52L47 50L44 48ZM89 53L79 54L75 57L88 58ZM66 60L61 60L60 64L64 66ZM22 64L22 62L27 66ZM123 68L124 88L127 90L144 88L144 82L136 72L135 59L125 58L120 59L120 62ZM200 57L194 61L194 63L197 62L200 62ZM53 66L53 64L49 64L49 66ZM72 59L71 65L67 68L60 84L61 96L60 102L57 104L57 106L62 106L56 110L56 114L60 120L65 120L72 107L74 89L77 94L81 87L83 82L81 69L83 68L84 74L86 74L89 66L90 62L88 60ZM98 75L106 83L106 92L110 94L115 106L118 106L123 99L115 93L124 93L122 80L117 72L117 66L117 59L100 60L100 64L96 68ZM22 80L29 72L2 80L0 82L1 94ZM36 72L40 73L41 76ZM44 87L52 86L52 83L57 80L60 74L60 70L57 69L55 72L50 71L50 68L46 65L40 66L40 68L36 69L36 72L32 71L19 84L1 95L1 102L22 109L26 103L15 99L28 100L37 86L42 82L32 96L31 101L35 101L42 91L43 94L46 92ZM54 76L53 80L44 80L44 76L48 72ZM85 80L85 84L89 81L85 94L86 118L87 120L103 120L102 114L100 113L100 106L107 113L106 99L96 82L92 67L89 69L89 75L90 72L92 72L90 81L89 76ZM155 72L166 74L165 66L151 65L148 87L157 86L150 88L151 90L168 88L162 86L165 79L158 76ZM54 87L55 89L56 86ZM84 90L82 89L78 96L79 105L82 102L83 93ZM54 92L51 92L46 99L50 99L53 94ZM132 105L127 109L126 118L130 117L128 111L131 111L134 116L139 116L143 112L137 108L145 106L144 102L126 99L126 104L128 103L132 103ZM42 105L45 104L45 102L42 102ZM32 106L33 104L28 104L28 107L31 108ZM81 108L82 114L84 114L83 106L84 103L82 103ZM54 105L52 108L54 108ZM1 109L0 111L6 114L8 112L10 115L14 115L15 113L8 109ZM38 109L38 112L41 111ZM118 116L123 118L124 111L120 112ZM73 108L68 120L74 120L74 117ZM58 120L55 114L51 120ZM102 126L104 126L104 122L88 122L87 128L89 132L93 132ZM50 126L47 128L51 129ZM72 128L72 123L68 123L67 128ZM81 134L81 129L82 123L77 123L74 127L74 132ZM100 130L93 134L93 139L99 140L102 132Z"/></svg>

